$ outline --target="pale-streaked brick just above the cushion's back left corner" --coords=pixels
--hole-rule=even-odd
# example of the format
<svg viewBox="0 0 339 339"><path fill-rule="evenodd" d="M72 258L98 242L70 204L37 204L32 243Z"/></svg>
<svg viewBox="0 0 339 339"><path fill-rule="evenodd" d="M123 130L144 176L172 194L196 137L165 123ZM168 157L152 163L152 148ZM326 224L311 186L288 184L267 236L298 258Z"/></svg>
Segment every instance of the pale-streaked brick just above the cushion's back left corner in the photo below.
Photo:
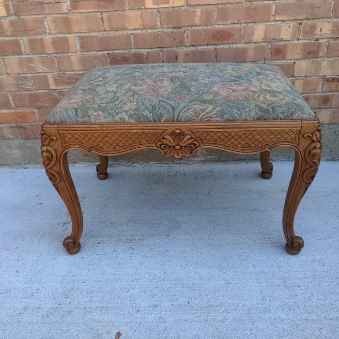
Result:
<svg viewBox="0 0 339 339"><path fill-rule="evenodd" d="M98 66L107 66L107 54L64 55L57 57L60 71L86 71Z"/></svg>

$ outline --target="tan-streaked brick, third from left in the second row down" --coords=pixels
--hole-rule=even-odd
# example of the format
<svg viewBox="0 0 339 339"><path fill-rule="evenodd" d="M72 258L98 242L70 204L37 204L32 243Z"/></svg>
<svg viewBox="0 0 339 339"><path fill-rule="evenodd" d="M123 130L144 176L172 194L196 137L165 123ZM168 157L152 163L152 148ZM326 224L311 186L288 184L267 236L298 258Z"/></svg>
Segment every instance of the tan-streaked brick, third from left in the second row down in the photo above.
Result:
<svg viewBox="0 0 339 339"><path fill-rule="evenodd" d="M105 31L156 28L156 12L105 13Z"/></svg>

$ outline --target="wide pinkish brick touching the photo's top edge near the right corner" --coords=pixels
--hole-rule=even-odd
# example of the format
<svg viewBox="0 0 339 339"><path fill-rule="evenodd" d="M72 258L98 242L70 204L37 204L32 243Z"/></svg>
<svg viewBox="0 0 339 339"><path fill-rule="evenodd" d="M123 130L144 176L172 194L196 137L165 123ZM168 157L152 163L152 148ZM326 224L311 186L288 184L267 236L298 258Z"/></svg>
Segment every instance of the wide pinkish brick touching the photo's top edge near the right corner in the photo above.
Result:
<svg viewBox="0 0 339 339"><path fill-rule="evenodd" d="M329 17L332 1L277 2L276 20Z"/></svg>

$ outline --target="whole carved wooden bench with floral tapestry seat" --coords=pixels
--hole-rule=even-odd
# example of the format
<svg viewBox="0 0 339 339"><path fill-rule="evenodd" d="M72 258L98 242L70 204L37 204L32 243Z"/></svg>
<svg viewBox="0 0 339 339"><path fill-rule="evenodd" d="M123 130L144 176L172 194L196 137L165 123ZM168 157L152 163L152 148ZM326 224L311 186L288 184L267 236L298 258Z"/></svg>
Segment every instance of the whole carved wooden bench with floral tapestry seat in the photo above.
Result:
<svg viewBox="0 0 339 339"><path fill-rule="evenodd" d="M99 154L99 179L107 178L108 155L155 149L181 158L201 148L260 153L262 177L268 179L270 152L293 148L283 231L289 253L304 246L294 234L293 220L319 167L321 127L277 67L212 63L95 68L53 109L41 134L47 176L72 219L72 233L63 241L68 253L79 251L83 224L67 162L67 152L75 149Z"/></svg>

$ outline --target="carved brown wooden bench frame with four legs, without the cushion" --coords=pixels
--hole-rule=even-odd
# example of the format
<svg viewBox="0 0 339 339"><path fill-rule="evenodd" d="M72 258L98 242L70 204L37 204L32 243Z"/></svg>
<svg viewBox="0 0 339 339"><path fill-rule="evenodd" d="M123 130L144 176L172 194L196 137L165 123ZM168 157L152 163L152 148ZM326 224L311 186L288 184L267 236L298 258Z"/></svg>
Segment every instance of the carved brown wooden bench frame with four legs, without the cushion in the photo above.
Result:
<svg viewBox="0 0 339 339"><path fill-rule="evenodd" d="M286 250L297 254L304 246L293 230L298 205L313 181L321 158L319 120L179 122L179 123L44 123L42 157L47 176L67 206L72 233L63 241L70 254L80 250L82 212L68 168L67 152L82 150L99 154L99 179L107 178L108 156L156 149L181 158L201 148L236 154L259 154L262 177L272 176L270 152L279 147L295 151L294 169L283 210Z"/></svg>

